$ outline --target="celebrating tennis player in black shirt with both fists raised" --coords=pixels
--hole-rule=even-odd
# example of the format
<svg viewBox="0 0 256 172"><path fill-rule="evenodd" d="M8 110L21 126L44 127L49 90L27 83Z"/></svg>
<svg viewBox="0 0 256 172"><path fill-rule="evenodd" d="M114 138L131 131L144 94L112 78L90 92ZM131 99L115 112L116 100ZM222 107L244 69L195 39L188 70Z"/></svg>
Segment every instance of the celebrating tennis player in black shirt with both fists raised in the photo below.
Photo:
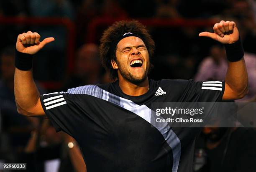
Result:
<svg viewBox="0 0 256 172"><path fill-rule="evenodd" d="M46 115L56 131L75 138L85 155L88 172L190 172L200 129L152 127L150 108L153 102L240 99L248 92L236 23L221 21L213 30L199 36L225 44L229 61L225 82L149 80L154 41L145 26L133 20L114 23L101 38L102 65L117 81L41 96L32 78L31 55L54 38L40 42L38 33L20 34L14 79L18 112Z"/></svg>

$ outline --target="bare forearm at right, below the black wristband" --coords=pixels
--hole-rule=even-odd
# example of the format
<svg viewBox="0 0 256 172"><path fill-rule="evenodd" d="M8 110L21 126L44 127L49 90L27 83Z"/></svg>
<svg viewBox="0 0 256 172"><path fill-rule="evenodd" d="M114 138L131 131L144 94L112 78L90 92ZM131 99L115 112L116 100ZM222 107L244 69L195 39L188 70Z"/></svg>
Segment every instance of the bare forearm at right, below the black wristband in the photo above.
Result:
<svg viewBox="0 0 256 172"><path fill-rule="evenodd" d="M228 71L225 77L233 94L237 98L242 98L248 92L248 75L244 58L236 62L228 62Z"/></svg>

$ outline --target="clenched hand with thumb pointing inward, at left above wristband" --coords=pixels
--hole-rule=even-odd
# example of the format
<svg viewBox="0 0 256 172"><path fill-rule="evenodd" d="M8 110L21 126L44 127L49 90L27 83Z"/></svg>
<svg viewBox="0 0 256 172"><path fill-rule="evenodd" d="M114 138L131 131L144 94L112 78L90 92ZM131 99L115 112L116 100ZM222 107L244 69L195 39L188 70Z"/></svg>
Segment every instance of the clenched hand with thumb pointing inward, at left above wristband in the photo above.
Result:
<svg viewBox="0 0 256 172"><path fill-rule="evenodd" d="M40 42L40 35L36 32L28 31L18 35L16 49L21 53L35 54L41 50L47 43L54 41L53 37L45 38Z"/></svg>

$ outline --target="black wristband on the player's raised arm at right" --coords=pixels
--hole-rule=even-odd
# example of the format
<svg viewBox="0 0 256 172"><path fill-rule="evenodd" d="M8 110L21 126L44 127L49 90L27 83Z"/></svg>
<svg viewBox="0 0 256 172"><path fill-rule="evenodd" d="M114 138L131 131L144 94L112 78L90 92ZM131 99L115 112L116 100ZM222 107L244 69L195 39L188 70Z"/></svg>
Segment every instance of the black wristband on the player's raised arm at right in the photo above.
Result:
<svg viewBox="0 0 256 172"><path fill-rule="evenodd" d="M235 43L225 44L225 49L228 61L235 62L243 58L244 53L240 37Z"/></svg>

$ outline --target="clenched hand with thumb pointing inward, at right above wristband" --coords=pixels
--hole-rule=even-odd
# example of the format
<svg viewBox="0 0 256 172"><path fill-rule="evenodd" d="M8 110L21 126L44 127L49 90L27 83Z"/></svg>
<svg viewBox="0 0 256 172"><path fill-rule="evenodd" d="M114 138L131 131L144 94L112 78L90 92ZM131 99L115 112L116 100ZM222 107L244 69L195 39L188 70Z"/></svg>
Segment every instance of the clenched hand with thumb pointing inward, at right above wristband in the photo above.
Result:
<svg viewBox="0 0 256 172"><path fill-rule="evenodd" d="M213 26L214 33L201 32L199 36L206 36L223 44L235 43L239 39L239 32L236 23L233 21L221 20Z"/></svg>

